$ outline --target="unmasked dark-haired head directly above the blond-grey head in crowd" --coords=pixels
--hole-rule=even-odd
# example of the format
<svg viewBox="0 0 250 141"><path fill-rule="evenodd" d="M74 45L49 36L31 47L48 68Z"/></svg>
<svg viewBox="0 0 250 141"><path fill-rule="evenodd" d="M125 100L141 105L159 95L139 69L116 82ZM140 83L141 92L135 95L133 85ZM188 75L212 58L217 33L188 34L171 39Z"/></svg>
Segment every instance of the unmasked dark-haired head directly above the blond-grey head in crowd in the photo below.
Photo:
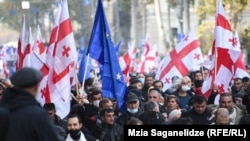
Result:
<svg viewBox="0 0 250 141"><path fill-rule="evenodd" d="M165 106L168 110L175 110L180 108L180 99L175 95L168 95L165 100Z"/></svg>

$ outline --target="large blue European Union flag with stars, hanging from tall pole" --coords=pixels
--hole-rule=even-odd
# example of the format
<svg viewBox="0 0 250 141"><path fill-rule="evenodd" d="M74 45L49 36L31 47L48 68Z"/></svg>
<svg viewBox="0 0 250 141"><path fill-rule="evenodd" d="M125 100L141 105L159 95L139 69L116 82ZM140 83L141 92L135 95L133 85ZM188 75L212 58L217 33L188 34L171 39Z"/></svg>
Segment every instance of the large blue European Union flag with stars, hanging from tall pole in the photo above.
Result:
<svg viewBox="0 0 250 141"><path fill-rule="evenodd" d="M95 21L87 53L101 65L103 97L116 99L119 110L125 110L127 86L111 38L102 0L98 0Z"/></svg>

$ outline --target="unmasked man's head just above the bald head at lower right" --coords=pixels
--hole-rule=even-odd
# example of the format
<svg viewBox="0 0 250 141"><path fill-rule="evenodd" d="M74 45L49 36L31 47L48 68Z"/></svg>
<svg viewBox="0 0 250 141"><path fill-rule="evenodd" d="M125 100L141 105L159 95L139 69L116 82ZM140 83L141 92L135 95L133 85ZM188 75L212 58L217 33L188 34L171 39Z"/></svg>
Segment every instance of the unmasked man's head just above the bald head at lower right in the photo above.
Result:
<svg viewBox="0 0 250 141"><path fill-rule="evenodd" d="M229 112L232 111L233 107L233 97L230 93L223 93L220 95L219 107L226 108Z"/></svg>

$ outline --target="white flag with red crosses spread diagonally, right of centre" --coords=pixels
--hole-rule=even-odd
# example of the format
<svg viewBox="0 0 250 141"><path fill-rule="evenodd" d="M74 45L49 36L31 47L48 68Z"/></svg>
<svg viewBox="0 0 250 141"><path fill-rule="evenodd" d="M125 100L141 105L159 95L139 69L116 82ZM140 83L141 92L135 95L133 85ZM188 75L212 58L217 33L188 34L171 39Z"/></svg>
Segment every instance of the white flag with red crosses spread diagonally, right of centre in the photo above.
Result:
<svg viewBox="0 0 250 141"><path fill-rule="evenodd" d="M198 57L200 56L200 57ZM194 58L196 57L196 58ZM194 30L169 52L160 63L156 79L164 83L163 90L171 87L171 78L187 75L189 71L199 70L203 62L199 41Z"/></svg>

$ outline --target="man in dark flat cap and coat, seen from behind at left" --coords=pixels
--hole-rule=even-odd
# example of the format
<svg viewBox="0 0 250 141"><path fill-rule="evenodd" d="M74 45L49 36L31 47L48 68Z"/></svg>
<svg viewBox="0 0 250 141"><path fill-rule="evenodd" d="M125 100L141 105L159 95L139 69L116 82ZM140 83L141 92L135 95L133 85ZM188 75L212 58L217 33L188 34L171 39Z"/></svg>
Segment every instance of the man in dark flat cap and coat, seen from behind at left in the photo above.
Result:
<svg viewBox="0 0 250 141"><path fill-rule="evenodd" d="M43 75L33 68L22 68L11 77L2 105L10 111L6 141L60 141L48 113L36 101Z"/></svg>

